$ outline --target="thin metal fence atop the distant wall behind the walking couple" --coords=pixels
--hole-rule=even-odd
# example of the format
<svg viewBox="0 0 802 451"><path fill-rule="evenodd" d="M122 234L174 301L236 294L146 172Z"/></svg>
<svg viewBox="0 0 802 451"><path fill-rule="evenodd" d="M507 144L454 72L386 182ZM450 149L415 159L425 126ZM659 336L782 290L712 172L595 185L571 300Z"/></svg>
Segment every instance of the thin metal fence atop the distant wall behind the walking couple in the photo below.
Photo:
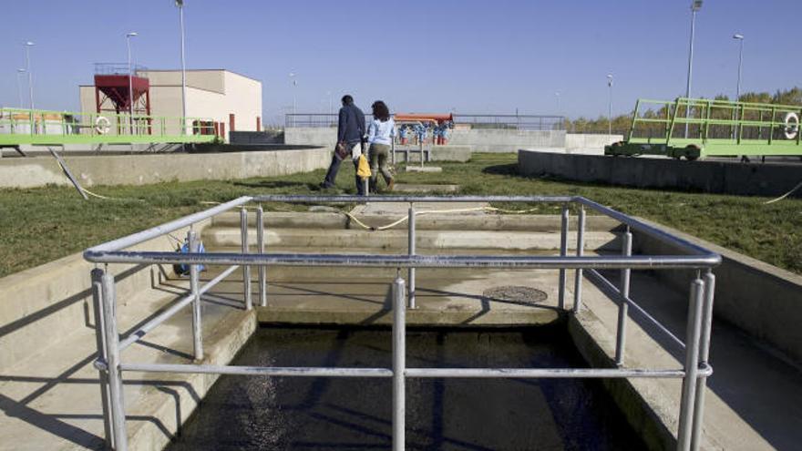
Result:
<svg viewBox="0 0 802 451"><path fill-rule="evenodd" d="M370 121L371 115L365 115ZM564 130L565 118L562 116L538 115L478 115L454 114L455 125L466 125L470 128L509 129L509 130ZM287 114L284 116L286 128L325 128L337 127L335 114Z"/></svg>

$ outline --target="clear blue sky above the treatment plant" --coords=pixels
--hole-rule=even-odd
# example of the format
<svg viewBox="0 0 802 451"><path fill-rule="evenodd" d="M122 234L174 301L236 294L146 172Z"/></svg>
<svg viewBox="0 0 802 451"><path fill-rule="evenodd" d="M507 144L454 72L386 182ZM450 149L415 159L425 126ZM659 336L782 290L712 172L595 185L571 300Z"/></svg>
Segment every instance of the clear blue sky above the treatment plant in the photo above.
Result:
<svg viewBox="0 0 802 451"><path fill-rule="evenodd" d="M684 94L690 0L186 0L189 68L262 81L265 123L327 112L344 93L395 111L606 114L637 97ZM180 67L172 0L3 0L0 105L18 104L22 44L32 48L37 108L77 110L95 62ZM745 35L744 90L802 86L798 0L705 0L696 19L694 96L733 97ZM26 89L23 85L23 89ZM558 96L560 106L558 109ZM26 101L27 104L27 101Z"/></svg>

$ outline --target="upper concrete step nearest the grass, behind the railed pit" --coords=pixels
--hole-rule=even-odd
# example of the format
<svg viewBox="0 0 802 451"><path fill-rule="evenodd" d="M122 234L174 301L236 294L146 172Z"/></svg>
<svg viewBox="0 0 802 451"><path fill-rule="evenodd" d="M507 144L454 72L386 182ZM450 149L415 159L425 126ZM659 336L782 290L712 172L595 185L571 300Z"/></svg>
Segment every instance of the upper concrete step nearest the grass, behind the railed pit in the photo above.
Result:
<svg viewBox="0 0 802 451"><path fill-rule="evenodd" d="M371 204L374 205L374 204ZM464 206L463 206L464 207ZM439 210L459 209L459 204L441 205ZM432 210L432 209L429 209ZM356 214L356 218L370 227L380 227L391 224L406 216L406 211L395 214ZM256 225L256 213L249 211L248 223ZM212 220L213 226L240 226L240 213L228 212L216 216ZM482 214L466 215L451 213L433 213L416 215L416 229L418 231L559 231L559 215L537 214ZM587 231L612 231L619 227L619 222L606 216L587 217ZM362 229L354 220L341 212L283 212L266 211L264 213L264 226L266 229ZM397 224L393 229L406 230L406 220ZM576 216L569 222L569 229L576 230Z"/></svg>

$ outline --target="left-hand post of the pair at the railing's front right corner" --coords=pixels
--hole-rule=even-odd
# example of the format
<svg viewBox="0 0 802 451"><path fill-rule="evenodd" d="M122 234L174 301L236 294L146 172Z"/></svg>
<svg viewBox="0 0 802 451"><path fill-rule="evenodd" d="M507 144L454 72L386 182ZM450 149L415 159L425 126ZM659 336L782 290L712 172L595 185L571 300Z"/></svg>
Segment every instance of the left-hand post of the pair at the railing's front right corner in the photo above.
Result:
<svg viewBox="0 0 802 451"><path fill-rule="evenodd" d="M704 282L697 278L691 282L690 302L688 302L688 323L685 336L685 376L683 377L683 397L680 402L679 428L677 430L677 450L691 449L691 428L694 421L696 383L699 374L699 335L702 329L702 303Z"/></svg>

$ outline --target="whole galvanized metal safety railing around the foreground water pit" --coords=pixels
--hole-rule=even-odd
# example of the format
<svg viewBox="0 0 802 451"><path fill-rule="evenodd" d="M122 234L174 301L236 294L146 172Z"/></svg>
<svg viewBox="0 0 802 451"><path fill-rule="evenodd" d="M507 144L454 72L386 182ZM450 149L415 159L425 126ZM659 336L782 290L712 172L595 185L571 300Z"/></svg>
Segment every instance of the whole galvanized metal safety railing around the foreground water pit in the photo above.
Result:
<svg viewBox="0 0 802 451"><path fill-rule="evenodd" d="M370 202L408 203L407 231L408 249L401 255L325 254L325 253L279 253L265 252L264 211L262 203L293 202L306 204L360 203L359 196L291 196L268 195L242 197L227 203L173 220L147 231L109 241L84 252L87 261L102 263L92 271L94 311L97 331L98 359L95 366L100 375L100 394L107 444L116 450L127 449L128 436L123 404L123 374L134 373L182 373L182 374L239 374L272 376L316 376L316 377L387 377L393 380L393 448L405 449L406 379L420 377L470 377L470 378L679 378L683 380L680 397L679 428L676 449L698 449L704 410L706 379L713 374L708 364L710 333L713 315L715 276L712 268L721 262L714 252L665 231L654 228L619 211L599 203L576 196L386 196L372 197ZM256 207L256 251L252 252L248 241L247 204ZM416 203L419 202L526 202L560 203L560 254L558 256L499 256L499 255L419 255L416 253ZM571 206L577 212L576 254L569 255L569 223ZM241 252L199 252L199 240L194 224L240 208ZM621 255L585 255L586 210L612 218L622 223L623 244ZM141 244L180 229L190 228L187 240L189 253L170 251L127 251ZM677 255L633 255L632 231L638 231L680 250ZM159 314L144 323L139 323L129 333L118 331L117 297L115 278L108 271L108 264L129 263L186 264L190 266L190 289L186 295L172 302ZM220 275L201 285L199 265L222 265L227 269ZM258 270L259 304L269 305L267 271L271 266L344 266L367 268L395 268L393 287L393 364L391 368L344 368L344 367L272 367L203 364L203 337L201 334L201 296L232 272L242 269L243 308L252 309L252 267ZM618 323L615 345L614 368L409 368L406 366L406 310L416 308L417 268L513 268L558 270L558 308L568 314L582 309L582 281L588 278L596 282L602 292L618 303ZM401 277L406 269L406 280ZM681 340L667 327L646 312L630 295L632 270L695 270L690 284L685 339ZM574 270L573 301L567 302L568 271ZM601 270L621 271L619 285L610 282ZM184 307L192 308L192 337L195 362L191 364L146 364L122 362L120 352L138 342L146 333L164 323ZM642 318L663 333L670 343L684 350L684 364L677 368L629 368L624 365L626 350L626 327L629 309L640 313Z"/></svg>

